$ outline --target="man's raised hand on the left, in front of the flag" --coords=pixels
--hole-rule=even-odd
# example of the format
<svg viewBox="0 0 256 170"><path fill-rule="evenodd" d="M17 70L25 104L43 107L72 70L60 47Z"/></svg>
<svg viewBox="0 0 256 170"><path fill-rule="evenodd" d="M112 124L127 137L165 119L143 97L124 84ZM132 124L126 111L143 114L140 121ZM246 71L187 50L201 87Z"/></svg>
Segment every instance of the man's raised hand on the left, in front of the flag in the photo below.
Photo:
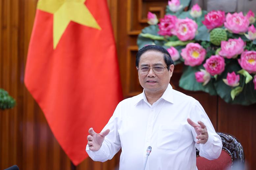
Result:
<svg viewBox="0 0 256 170"><path fill-rule="evenodd" d="M100 149L100 146L101 146L105 136L107 136L107 134L109 132L110 132L110 130L107 129L104 132L97 134L96 132L94 132L93 128L90 128L89 129L90 135L87 136L89 149L91 151L98 151Z"/></svg>

